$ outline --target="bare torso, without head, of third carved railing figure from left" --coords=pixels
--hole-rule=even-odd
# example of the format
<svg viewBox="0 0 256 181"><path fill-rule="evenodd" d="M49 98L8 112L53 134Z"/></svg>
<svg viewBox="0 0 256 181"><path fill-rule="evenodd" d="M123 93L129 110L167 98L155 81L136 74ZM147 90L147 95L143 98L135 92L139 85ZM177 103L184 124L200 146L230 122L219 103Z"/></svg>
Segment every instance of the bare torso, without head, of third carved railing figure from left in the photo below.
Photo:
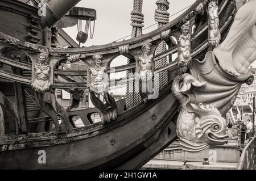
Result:
<svg viewBox="0 0 256 181"><path fill-rule="evenodd" d="M148 55L146 57L141 56L138 58L139 76L142 79L148 80L152 77L153 61L152 55Z"/></svg>

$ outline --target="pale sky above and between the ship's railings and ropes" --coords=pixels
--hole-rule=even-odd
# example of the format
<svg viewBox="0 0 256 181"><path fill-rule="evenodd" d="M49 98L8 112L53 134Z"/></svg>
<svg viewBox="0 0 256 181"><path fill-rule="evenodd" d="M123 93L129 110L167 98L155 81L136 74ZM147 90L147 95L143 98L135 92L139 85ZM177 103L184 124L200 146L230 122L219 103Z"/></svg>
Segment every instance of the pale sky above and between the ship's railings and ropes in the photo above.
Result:
<svg viewBox="0 0 256 181"><path fill-rule="evenodd" d="M192 5L196 0L169 0L170 9L168 12L170 15L174 15L177 12L188 8L189 5ZM157 6L155 4L156 0L143 0L143 9L142 13L144 14L144 28L142 33L148 33L157 28L155 24L154 13ZM125 39L130 39L132 27L131 23L131 11L133 11L133 0L82 0L76 6L78 7L87 7L90 9L95 9L97 12L97 19L95 22L94 36L93 39L88 40L85 44L81 46L89 47L91 45L103 45L112 43L113 41L122 41ZM187 9L185 9L187 10ZM171 16L170 21L175 19L177 16L182 14L185 10L179 12L178 14ZM155 24L154 26L152 26ZM91 24L93 28L93 22ZM152 26L152 27L150 27ZM82 30L84 30L85 21L82 22ZM150 28L147 28L150 27ZM68 33L72 39L76 40L77 36L77 26L64 28L64 31ZM76 41L77 42L77 41ZM77 42L78 43L78 42ZM120 66L125 65L127 58L119 56L115 58L111 66ZM126 72L116 73L110 75L110 78L121 78L125 77ZM117 89L113 92L114 94L125 94L125 88Z"/></svg>

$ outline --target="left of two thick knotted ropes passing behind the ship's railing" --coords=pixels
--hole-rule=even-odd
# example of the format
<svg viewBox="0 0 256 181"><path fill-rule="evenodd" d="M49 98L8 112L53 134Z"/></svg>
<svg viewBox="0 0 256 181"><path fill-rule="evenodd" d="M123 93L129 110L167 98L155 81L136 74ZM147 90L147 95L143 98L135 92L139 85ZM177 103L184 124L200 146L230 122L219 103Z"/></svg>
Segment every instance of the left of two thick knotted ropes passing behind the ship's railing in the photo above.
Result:
<svg viewBox="0 0 256 181"><path fill-rule="evenodd" d="M133 30L131 32L131 38L141 36L142 35L142 27L144 25L144 15L142 14L142 5L143 0L134 0L133 2L133 11L131 11L131 26L133 26ZM130 64L134 60L127 60L127 64ZM129 78L133 76L133 70L128 70L126 72L126 77ZM130 86L129 86L130 85ZM126 85L126 108L131 108L141 102L141 96L139 95L139 86L137 81L135 81L135 85L132 83L128 83Z"/></svg>

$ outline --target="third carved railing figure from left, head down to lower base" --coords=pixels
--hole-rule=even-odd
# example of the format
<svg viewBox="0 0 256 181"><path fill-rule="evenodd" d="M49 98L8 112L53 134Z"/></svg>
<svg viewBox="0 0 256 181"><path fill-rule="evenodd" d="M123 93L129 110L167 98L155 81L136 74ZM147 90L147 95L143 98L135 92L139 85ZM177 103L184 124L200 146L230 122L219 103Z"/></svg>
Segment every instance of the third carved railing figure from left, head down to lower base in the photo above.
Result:
<svg viewBox="0 0 256 181"><path fill-rule="evenodd" d="M151 43L142 46L142 54L136 58L137 74L139 78L139 93L144 102L149 99L148 96L154 94L154 60L150 53Z"/></svg>

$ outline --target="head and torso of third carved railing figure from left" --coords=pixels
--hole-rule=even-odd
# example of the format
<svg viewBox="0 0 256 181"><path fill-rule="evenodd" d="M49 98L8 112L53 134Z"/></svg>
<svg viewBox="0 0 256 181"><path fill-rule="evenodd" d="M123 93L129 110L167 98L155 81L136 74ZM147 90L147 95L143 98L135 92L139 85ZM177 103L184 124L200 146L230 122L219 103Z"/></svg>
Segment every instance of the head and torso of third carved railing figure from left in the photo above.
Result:
<svg viewBox="0 0 256 181"><path fill-rule="evenodd" d="M143 81L148 81L154 73L153 55L150 53L151 43L142 46L142 55L138 57L138 73Z"/></svg>

